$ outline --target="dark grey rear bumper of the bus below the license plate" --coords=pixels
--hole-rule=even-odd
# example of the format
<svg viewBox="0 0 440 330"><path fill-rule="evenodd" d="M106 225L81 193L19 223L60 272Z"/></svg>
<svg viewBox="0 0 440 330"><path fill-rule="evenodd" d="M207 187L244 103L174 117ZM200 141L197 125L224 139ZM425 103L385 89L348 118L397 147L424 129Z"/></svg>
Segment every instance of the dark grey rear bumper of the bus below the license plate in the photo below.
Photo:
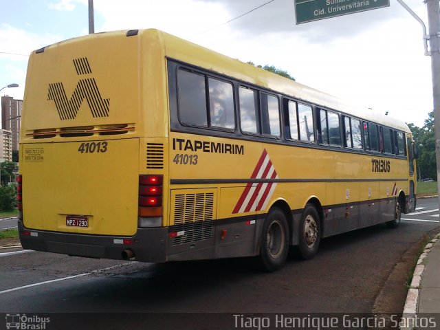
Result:
<svg viewBox="0 0 440 330"><path fill-rule="evenodd" d="M25 228L18 221L21 245L28 250L122 260L122 252L130 249L135 261L161 263L166 261L168 228L138 228L134 236L102 236L48 232ZM28 230L30 235L25 235ZM124 244L130 239L132 244Z"/></svg>

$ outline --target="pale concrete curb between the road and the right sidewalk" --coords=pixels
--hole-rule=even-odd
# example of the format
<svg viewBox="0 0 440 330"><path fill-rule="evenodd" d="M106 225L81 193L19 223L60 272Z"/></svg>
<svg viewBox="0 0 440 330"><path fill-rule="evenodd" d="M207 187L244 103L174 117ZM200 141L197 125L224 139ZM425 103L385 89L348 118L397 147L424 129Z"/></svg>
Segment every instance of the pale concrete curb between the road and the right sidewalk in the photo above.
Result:
<svg viewBox="0 0 440 330"><path fill-rule="evenodd" d="M419 295L420 295L420 285L421 285L421 277L423 276L423 270L425 270L425 265L423 265L423 261L428 257L428 254L432 248L432 245L440 239L440 233L437 234L434 239L432 239L428 244L426 244L423 249L423 253L419 256L419 260L417 261L417 265L414 270L414 274L412 275L412 281L410 288L408 289L408 294L406 295L405 307L402 313L402 319L406 319L408 321L402 321L400 324L401 330L413 330L413 322L409 320L414 320L417 315L417 307L419 306Z"/></svg>

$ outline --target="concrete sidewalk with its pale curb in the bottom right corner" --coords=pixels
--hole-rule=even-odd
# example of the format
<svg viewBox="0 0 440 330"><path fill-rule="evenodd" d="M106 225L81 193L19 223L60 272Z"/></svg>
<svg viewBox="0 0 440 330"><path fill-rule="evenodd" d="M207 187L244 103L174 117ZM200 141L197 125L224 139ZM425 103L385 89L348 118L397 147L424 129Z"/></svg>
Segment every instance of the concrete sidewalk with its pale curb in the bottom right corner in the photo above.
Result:
<svg viewBox="0 0 440 330"><path fill-rule="evenodd" d="M432 329L432 322L436 323L434 329L440 329L440 234L417 261L402 319L401 329Z"/></svg>

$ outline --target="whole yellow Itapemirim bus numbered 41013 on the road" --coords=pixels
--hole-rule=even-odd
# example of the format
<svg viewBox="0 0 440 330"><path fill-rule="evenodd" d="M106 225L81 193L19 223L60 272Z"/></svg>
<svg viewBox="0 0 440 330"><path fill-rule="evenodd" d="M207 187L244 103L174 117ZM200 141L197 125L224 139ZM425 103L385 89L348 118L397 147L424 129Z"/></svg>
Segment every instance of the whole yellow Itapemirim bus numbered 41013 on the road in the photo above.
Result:
<svg viewBox="0 0 440 330"><path fill-rule="evenodd" d="M21 119L26 249L272 271L415 209L406 124L158 30L32 52Z"/></svg>

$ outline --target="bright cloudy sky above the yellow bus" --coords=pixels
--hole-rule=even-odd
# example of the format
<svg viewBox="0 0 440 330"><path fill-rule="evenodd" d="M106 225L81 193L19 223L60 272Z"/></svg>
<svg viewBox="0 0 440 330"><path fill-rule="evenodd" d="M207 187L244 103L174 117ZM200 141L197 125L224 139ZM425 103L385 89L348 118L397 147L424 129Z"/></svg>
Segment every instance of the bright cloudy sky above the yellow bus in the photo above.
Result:
<svg viewBox="0 0 440 330"><path fill-rule="evenodd" d="M421 25L390 1L296 25L294 0L94 0L95 32L157 28L421 127L433 109L430 56ZM427 25L423 1L405 2ZM0 8L0 88L20 85L0 96L23 99L30 52L88 34L88 1L0 0Z"/></svg>

